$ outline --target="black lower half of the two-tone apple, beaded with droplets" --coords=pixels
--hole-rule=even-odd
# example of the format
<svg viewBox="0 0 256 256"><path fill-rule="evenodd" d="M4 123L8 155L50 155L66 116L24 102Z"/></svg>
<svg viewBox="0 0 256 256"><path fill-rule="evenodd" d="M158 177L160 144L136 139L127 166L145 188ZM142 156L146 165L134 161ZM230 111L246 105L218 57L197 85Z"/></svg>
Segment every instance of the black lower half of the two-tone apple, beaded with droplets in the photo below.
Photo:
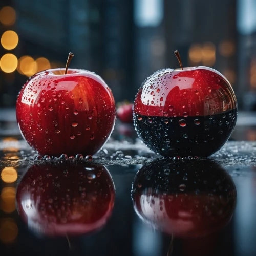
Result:
<svg viewBox="0 0 256 256"><path fill-rule="evenodd" d="M237 121L237 108L211 116L164 117L135 113L141 140L163 156L208 157L226 143Z"/></svg>

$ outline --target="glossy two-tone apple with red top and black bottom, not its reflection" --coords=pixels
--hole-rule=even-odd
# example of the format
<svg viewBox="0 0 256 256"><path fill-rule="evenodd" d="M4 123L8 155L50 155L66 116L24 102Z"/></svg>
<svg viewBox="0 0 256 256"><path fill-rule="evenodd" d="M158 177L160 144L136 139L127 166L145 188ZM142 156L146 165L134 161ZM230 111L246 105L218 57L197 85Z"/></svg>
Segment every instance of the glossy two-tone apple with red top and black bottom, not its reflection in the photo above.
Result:
<svg viewBox="0 0 256 256"><path fill-rule="evenodd" d="M236 121L230 83L208 67L157 71L135 98L135 129L163 156L210 156L228 140Z"/></svg>

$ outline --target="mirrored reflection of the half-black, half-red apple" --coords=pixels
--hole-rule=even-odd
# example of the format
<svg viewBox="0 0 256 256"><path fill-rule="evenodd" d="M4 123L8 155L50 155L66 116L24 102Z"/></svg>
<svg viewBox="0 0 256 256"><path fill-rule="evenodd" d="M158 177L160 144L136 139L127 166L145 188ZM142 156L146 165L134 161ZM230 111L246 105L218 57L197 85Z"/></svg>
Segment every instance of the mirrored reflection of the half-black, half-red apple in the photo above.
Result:
<svg viewBox="0 0 256 256"><path fill-rule="evenodd" d="M195 238L229 223L237 193L230 175L214 161L157 159L136 174L132 198L145 223L177 237Z"/></svg>

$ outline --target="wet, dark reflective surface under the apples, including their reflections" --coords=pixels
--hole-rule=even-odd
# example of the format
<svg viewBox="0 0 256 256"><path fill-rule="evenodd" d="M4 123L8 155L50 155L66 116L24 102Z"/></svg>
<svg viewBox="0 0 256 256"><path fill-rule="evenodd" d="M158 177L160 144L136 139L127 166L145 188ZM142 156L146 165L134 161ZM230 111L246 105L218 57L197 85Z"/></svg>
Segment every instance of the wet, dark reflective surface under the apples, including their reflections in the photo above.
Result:
<svg viewBox="0 0 256 256"><path fill-rule="evenodd" d="M173 160L119 139L89 162L33 160L2 137L1 255L256 253L255 142Z"/></svg>

